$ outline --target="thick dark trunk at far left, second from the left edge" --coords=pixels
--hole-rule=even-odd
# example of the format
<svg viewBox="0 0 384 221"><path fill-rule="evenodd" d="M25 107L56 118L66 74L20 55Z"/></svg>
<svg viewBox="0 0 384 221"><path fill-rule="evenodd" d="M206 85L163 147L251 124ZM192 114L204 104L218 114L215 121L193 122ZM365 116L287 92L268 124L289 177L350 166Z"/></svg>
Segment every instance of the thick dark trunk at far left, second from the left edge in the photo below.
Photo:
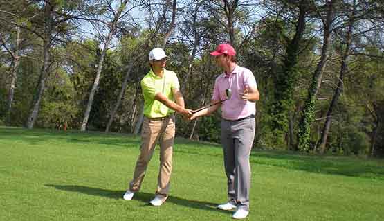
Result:
<svg viewBox="0 0 384 221"><path fill-rule="evenodd" d="M44 5L44 19L45 19L45 30L44 30L44 61L42 71L40 72L39 82L37 85L37 91L33 97L33 102L28 116L27 127L32 129L35 124L37 115L39 114L39 107L44 94L45 82L48 76L48 69L50 66L50 55L51 55L51 40L53 32L53 4L46 2Z"/></svg>

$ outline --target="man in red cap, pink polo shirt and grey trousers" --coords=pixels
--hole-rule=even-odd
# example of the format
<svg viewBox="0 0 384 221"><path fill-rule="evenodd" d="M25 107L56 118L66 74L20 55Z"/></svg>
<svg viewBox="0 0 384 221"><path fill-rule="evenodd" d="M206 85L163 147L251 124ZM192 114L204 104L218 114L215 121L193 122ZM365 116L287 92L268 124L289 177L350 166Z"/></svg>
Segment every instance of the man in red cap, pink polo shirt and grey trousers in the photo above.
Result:
<svg viewBox="0 0 384 221"><path fill-rule="evenodd" d="M228 89L232 96L196 112L190 119L209 115L221 105L221 144L228 178L228 202L217 207L236 209L232 218L243 219L249 213L249 155L255 138L255 101L259 100L259 91L252 71L237 65L236 51L230 44L220 44L210 54L224 71L214 82L212 103L225 100Z"/></svg>

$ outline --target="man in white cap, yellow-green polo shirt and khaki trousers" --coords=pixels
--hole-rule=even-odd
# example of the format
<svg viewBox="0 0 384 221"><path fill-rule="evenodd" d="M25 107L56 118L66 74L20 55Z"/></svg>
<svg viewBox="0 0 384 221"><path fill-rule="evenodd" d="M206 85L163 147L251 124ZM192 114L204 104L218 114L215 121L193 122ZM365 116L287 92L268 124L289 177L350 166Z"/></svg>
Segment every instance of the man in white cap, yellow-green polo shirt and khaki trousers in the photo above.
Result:
<svg viewBox="0 0 384 221"><path fill-rule="evenodd" d="M190 109L185 109L176 73L165 69L167 55L161 48L149 52L151 70L141 80L144 96L144 121L141 132L140 155L136 162L134 178L124 194L124 200L131 200L140 190L145 170L154 153L157 141L160 141L160 171L154 200L150 203L161 206L168 197L172 171L172 146L175 135L174 112L186 117L192 116Z"/></svg>

